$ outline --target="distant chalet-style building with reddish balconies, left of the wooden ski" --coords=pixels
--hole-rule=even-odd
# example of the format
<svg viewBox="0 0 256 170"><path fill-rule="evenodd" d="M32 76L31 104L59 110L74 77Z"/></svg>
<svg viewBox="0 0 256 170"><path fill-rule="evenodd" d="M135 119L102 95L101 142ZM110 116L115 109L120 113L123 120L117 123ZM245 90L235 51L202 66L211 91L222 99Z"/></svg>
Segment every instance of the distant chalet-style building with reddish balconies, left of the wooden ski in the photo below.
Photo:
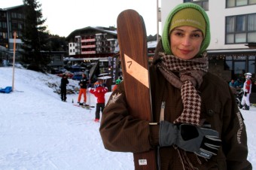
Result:
<svg viewBox="0 0 256 170"><path fill-rule="evenodd" d="M100 60L108 62L109 56L119 51L117 30L114 27L85 27L76 29L67 38L71 61Z"/></svg>

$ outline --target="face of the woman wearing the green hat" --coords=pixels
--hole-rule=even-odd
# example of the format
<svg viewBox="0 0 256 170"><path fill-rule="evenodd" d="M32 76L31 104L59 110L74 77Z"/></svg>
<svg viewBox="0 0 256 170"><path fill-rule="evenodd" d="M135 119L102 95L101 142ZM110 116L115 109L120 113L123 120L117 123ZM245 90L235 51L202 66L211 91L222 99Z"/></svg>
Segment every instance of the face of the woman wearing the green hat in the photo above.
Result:
<svg viewBox="0 0 256 170"><path fill-rule="evenodd" d="M193 26L179 26L170 34L172 54L180 59L193 59L203 42L203 32Z"/></svg>

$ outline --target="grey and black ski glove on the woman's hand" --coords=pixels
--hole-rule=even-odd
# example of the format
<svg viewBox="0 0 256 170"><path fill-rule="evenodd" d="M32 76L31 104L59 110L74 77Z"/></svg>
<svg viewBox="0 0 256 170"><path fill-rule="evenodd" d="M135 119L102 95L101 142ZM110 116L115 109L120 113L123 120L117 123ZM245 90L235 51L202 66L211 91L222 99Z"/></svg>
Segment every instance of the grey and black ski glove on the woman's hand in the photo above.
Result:
<svg viewBox="0 0 256 170"><path fill-rule="evenodd" d="M198 156L210 159L218 153L221 139L218 132L190 124L174 125L167 121L160 122L159 144L161 147L175 144L182 150L194 152Z"/></svg>

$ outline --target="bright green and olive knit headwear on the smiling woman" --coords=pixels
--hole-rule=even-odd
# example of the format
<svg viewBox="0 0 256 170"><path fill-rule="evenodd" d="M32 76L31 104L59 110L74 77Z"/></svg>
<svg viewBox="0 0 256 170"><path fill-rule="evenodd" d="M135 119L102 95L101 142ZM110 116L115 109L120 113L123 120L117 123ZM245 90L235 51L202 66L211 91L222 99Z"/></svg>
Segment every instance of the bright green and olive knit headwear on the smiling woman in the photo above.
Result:
<svg viewBox="0 0 256 170"><path fill-rule="evenodd" d="M189 8L189 9L187 9L187 8ZM186 11L188 10L193 13L190 13L190 15L184 15L183 14L184 10L186 10ZM196 10L196 13L194 13L195 10ZM197 11L199 11L199 13ZM177 15L175 16L175 14L177 14ZM190 17L190 16L193 16L193 17ZM199 19L199 16L201 16L203 18ZM181 17L187 17L184 20L195 19L195 17L198 17L198 18L197 18L197 20L195 20L196 22L195 21L194 22L177 22L178 20L181 19ZM204 20L204 22L202 20ZM204 39L201 44L200 51L199 51L199 53L197 53L197 56L200 56L200 54L202 54L206 50L206 48L209 46L210 40L211 40L210 23L209 23L209 18L206 14L206 11L204 11L203 8L201 8L199 5L187 2L187 3L182 3L180 5L177 5L169 13L168 17L166 18L166 23L163 27L163 34L162 34L163 50L167 54L172 54L172 50L170 47L170 41L169 41L169 32L177 26L194 26L194 27L202 30Z"/></svg>

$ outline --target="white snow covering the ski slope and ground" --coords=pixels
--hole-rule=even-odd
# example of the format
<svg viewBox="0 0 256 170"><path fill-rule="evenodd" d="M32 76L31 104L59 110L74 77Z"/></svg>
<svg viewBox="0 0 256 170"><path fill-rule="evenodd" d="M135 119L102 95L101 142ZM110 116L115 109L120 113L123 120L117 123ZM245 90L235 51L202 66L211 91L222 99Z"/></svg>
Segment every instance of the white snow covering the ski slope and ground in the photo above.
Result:
<svg viewBox="0 0 256 170"><path fill-rule="evenodd" d="M0 68L0 87L12 86L11 67ZM68 89L77 80L69 79ZM95 108L75 107L78 94L61 102L54 93L60 77L14 70L14 92L0 93L0 169L133 169L133 154L105 150L95 123ZM53 85L57 84L56 87ZM106 94L106 99L111 93ZM90 95L90 105L96 99ZM256 108L242 111L248 135L248 160L256 165Z"/></svg>

